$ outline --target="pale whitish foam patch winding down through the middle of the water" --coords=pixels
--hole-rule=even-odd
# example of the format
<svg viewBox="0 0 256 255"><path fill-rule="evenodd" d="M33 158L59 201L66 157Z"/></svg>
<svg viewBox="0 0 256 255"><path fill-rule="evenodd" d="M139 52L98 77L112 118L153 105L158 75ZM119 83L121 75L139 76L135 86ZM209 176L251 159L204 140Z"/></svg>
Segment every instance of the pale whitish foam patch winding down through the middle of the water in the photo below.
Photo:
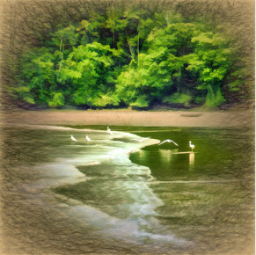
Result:
<svg viewBox="0 0 256 255"><path fill-rule="evenodd" d="M68 142L56 149L54 162L39 166L44 181L41 179L38 187L44 190L63 187L65 190L72 186L76 190L79 185L84 197L77 199L77 204L72 202L76 198L61 194L68 204L65 210L69 217L91 225L105 237L129 243L141 244L150 239L151 243L187 244L157 221L157 208L163 206L163 201L150 189L150 182L154 180L150 169L129 160L131 152L157 144L158 140L135 142L132 139L142 137L84 129L92 140L86 142L83 129L56 127L56 130L72 131L77 143ZM60 197L60 193L57 196Z"/></svg>

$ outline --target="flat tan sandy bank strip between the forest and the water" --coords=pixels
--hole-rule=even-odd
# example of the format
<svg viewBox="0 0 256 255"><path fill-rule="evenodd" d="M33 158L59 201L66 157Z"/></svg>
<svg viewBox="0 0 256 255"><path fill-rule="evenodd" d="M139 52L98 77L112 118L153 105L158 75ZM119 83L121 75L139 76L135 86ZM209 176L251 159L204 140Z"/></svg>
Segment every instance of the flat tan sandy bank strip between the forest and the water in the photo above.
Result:
<svg viewBox="0 0 256 255"><path fill-rule="evenodd" d="M8 124L106 125L147 127L253 127L254 113L242 112L146 112L132 110L47 110L4 112Z"/></svg>

